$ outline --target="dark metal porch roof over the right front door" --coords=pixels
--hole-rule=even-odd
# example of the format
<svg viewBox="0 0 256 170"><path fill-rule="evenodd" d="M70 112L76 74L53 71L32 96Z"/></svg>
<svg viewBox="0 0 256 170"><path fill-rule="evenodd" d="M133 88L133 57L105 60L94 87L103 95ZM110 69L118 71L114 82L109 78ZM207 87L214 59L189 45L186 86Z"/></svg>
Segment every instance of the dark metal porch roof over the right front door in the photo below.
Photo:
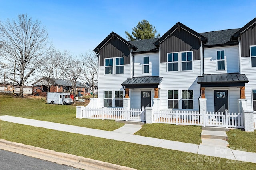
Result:
<svg viewBox="0 0 256 170"><path fill-rule="evenodd" d="M224 73L224 74L205 74L198 76L197 83L201 87L233 87L244 86L249 80L245 74Z"/></svg>

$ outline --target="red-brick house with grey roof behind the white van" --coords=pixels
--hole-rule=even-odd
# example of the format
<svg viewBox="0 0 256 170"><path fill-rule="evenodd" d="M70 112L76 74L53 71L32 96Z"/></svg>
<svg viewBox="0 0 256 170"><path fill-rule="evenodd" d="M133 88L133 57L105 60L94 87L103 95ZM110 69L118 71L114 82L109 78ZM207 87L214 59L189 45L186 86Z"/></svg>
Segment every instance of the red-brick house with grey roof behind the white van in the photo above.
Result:
<svg viewBox="0 0 256 170"><path fill-rule="evenodd" d="M72 82L66 79L40 78L33 84L33 94L45 95L49 86L50 92L72 92ZM76 96L84 96L88 92L88 86L76 82Z"/></svg>

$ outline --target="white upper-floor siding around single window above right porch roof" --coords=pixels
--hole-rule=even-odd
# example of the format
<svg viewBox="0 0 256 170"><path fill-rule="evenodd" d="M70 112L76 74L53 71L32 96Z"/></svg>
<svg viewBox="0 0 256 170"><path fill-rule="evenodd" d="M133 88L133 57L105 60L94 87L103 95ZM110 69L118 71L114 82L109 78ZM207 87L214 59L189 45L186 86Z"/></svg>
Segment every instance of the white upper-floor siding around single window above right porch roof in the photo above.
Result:
<svg viewBox="0 0 256 170"><path fill-rule="evenodd" d="M225 70L217 70L217 51L225 51ZM214 47L204 49L204 74L239 72L238 46Z"/></svg>

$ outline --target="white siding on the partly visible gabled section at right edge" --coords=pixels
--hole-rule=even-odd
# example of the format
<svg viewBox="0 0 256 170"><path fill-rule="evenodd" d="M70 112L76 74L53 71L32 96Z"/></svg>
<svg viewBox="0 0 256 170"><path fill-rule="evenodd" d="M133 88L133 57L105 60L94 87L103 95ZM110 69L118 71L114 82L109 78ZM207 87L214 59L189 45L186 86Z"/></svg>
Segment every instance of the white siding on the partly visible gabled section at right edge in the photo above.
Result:
<svg viewBox="0 0 256 170"><path fill-rule="evenodd" d="M250 57L241 57L241 74L245 74L249 80L245 84L245 98L247 99L247 108L253 110L252 90L256 90L256 67L250 67Z"/></svg>

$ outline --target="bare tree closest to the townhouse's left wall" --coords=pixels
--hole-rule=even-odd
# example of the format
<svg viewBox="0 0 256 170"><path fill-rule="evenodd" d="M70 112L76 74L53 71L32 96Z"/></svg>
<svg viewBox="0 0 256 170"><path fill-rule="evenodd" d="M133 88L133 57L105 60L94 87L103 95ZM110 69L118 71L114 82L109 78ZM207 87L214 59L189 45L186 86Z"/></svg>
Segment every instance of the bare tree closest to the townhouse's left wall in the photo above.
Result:
<svg viewBox="0 0 256 170"><path fill-rule="evenodd" d="M88 52L82 56L82 59L84 63L82 82L89 85L93 97L95 97L95 84L98 84L98 57L94 53Z"/></svg>

